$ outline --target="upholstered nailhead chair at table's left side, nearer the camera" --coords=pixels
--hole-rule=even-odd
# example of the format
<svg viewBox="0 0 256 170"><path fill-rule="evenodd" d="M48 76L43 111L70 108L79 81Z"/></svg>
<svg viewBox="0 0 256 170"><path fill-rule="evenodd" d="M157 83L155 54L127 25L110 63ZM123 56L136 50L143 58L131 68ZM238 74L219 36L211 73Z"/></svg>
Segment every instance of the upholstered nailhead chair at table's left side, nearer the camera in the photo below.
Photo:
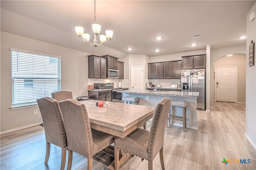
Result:
<svg viewBox="0 0 256 170"><path fill-rule="evenodd" d="M114 142L114 136L91 129L86 106L76 100L60 102L68 141L68 170L72 166L73 151L85 156L87 169L92 170L92 157Z"/></svg>

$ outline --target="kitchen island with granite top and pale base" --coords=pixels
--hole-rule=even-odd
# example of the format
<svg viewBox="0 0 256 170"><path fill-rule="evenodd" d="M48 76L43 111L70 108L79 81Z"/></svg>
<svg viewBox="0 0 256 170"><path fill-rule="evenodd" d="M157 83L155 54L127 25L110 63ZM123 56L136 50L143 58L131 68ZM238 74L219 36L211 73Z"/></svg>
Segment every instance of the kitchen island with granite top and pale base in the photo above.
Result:
<svg viewBox="0 0 256 170"><path fill-rule="evenodd" d="M131 96L140 98L140 105L143 106L153 106L156 107L156 104L162 100L162 98L170 98L171 100L184 100L188 102L186 107L187 112L187 128L198 129L197 127L197 98L199 92L179 92L179 91L152 91L152 90L142 90L142 91L133 91L133 90L123 90L118 91L122 93L122 96ZM173 107L172 112L175 111L175 115L182 116L181 107ZM182 126L181 121L172 120L172 125Z"/></svg>

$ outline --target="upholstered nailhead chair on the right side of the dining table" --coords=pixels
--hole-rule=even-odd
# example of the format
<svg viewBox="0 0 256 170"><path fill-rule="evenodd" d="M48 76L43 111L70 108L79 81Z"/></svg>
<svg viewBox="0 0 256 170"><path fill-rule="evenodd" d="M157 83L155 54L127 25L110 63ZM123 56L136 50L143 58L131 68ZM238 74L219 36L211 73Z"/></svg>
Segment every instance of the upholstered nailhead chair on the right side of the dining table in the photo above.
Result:
<svg viewBox="0 0 256 170"><path fill-rule="evenodd" d="M164 131L168 112L170 110L172 100L163 98L156 106L150 131L137 128L124 138L115 137L114 142L114 169L119 168L119 152L120 150L128 152L132 155L139 156L148 160L148 170L153 169L153 160L160 152L160 162L162 170L164 166Z"/></svg>

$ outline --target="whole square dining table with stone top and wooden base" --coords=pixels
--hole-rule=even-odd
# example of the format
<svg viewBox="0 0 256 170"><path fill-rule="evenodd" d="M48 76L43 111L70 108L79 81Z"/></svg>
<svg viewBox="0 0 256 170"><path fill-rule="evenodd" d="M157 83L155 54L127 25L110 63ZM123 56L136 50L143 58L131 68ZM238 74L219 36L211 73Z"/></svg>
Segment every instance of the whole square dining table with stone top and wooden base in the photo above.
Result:
<svg viewBox="0 0 256 170"><path fill-rule="evenodd" d="M96 106L98 100L83 100L80 102L86 106L92 129L121 138L146 125L146 121L153 117L155 111L155 107L152 106L104 102L103 107L98 107ZM114 155L112 145L104 151ZM120 166L130 156L131 154L121 151ZM108 169L114 170L114 161L108 166Z"/></svg>

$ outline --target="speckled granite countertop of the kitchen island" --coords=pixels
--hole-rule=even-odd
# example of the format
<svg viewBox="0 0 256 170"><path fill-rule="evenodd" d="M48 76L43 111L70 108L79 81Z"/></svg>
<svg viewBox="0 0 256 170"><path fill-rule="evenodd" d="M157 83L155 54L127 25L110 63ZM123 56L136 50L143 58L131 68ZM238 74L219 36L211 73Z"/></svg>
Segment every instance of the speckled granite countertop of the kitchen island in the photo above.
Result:
<svg viewBox="0 0 256 170"><path fill-rule="evenodd" d="M199 92L180 92L180 91L152 91L152 90L142 90L142 91L133 91L133 90L123 90L117 91L126 94L148 94L148 95L159 95L159 96L178 96L178 97L190 97L197 98Z"/></svg>

